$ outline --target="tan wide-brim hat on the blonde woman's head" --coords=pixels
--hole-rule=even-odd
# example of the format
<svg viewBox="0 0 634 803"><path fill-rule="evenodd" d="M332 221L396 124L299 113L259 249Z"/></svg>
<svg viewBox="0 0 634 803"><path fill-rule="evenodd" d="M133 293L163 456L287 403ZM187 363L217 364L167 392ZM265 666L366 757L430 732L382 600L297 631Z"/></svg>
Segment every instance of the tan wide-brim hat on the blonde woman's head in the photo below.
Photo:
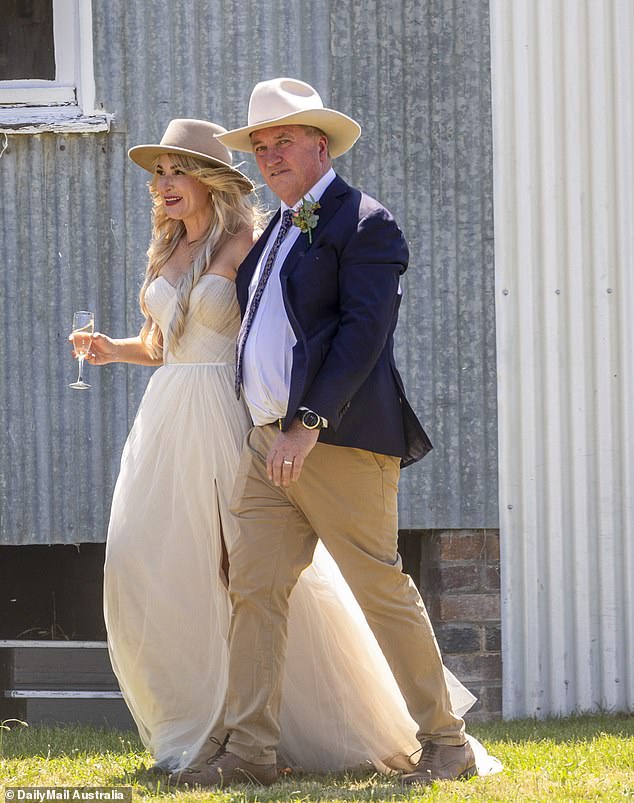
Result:
<svg viewBox="0 0 634 803"><path fill-rule="evenodd" d="M158 145L135 145L128 151L133 162L154 172L156 159L162 153L194 156L212 167L228 167L245 192L254 189L253 182L232 165L231 151L216 139L226 128L206 120L177 118L170 120Z"/></svg>

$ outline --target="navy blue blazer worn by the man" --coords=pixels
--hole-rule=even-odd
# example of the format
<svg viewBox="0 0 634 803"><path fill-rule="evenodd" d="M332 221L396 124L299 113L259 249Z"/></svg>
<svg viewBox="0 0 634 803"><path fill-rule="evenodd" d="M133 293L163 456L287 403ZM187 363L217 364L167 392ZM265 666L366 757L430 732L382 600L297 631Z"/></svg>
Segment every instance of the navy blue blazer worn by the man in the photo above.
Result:
<svg viewBox="0 0 634 803"><path fill-rule="evenodd" d="M392 215L339 176L329 185L312 232L300 234L280 281L297 343L287 429L299 407L328 419L319 440L401 458L406 466L431 448L405 398L394 363L399 278L409 251ZM258 259L279 210L238 270L244 315Z"/></svg>

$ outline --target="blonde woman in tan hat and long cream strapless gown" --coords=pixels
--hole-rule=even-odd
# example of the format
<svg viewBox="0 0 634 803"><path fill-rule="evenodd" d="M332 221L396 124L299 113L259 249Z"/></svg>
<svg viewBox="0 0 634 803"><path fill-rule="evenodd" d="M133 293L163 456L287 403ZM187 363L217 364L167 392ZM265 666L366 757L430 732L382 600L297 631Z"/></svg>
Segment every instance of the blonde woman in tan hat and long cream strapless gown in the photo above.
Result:
<svg viewBox="0 0 634 803"><path fill-rule="evenodd" d="M172 120L132 148L153 173L152 241L136 338L96 334L90 361L161 365L126 442L104 579L112 664L166 770L201 765L225 733L228 503L250 426L233 389L238 266L257 237L251 182L213 138ZM319 547L291 598L281 752L292 766L410 769L416 726L361 610ZM473 697L453 679L460 713ZM486 753L484 754L486 758Z"/></svg>

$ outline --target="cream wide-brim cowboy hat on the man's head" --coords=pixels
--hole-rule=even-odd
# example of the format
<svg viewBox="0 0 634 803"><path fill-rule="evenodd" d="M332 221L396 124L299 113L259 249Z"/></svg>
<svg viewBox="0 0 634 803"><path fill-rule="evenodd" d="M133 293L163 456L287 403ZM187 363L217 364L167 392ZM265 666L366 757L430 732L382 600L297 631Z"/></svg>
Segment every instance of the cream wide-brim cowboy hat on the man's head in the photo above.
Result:
<svg viewBox="0 0 634 803"><path fill-rule="evenodd" d="M317 91L294 78L273 78L256 84L247 119L248 125L218 134L218 139L233 150L252 151L254 131L278 125L310 125L326 134L334 158L350 150L361 134L359 123L341 112L324 108Z"/></svg>

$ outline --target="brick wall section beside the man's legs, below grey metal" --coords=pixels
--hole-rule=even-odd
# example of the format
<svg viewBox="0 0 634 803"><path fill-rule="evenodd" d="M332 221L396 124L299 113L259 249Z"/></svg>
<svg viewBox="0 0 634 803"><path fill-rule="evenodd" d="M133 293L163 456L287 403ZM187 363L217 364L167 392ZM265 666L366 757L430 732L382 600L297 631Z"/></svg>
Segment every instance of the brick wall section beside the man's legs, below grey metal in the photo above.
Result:
<svg viewBox="0 0 634 803"><path fill-rule="evenodd" d="M500 718L498 531L404 531L401 553L425 600L446 666L478 698L467 721Z"/></svg>

